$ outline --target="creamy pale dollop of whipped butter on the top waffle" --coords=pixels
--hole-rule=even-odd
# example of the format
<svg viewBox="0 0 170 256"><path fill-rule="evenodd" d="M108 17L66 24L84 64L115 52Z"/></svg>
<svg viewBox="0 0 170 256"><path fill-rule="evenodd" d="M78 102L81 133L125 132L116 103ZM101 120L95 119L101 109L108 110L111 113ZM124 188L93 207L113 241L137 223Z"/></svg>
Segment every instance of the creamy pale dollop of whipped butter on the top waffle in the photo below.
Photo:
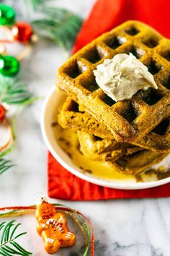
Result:
<svg viewBox="0 0 170 256"><path fill-rule="evenodd" d="M158 89L148 68L133 54L104 59L94 70L97 84L114 101L132 98L138 90Z"/></svg>

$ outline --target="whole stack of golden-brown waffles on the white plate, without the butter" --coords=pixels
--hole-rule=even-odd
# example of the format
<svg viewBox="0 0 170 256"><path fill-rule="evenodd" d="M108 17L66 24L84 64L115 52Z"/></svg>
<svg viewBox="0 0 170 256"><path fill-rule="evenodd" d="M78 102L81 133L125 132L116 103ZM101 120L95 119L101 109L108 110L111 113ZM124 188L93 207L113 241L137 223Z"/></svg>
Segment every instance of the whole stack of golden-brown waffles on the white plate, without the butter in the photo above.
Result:
<svg viewBox="0 0 170 256"><path fill-rule="evenodd" d="M158 90L139 90L125 101L109 98L93 71L120 53L142 61ZM63 64L56 83L68 95L58 122L77 131L81 151L89 159L138 174L170 152L170 40L151 27L129 21L105 33Z"/></svg>

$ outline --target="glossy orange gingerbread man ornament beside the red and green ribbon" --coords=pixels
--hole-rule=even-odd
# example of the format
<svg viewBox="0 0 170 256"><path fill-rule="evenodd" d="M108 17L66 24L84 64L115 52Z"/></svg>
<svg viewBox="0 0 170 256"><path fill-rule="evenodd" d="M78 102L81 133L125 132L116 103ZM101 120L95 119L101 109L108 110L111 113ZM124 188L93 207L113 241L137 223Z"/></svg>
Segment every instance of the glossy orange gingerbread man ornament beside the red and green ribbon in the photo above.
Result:
<svg viewBox="0 0 170 256"><path fill-rule="evenodd" d="M60 247L70 247L76 242L76 236L69 231L66 217L57 213L55 207L45 200L37 205L37 233L45 242L45 250L49 254L58 251Z"/></svg>

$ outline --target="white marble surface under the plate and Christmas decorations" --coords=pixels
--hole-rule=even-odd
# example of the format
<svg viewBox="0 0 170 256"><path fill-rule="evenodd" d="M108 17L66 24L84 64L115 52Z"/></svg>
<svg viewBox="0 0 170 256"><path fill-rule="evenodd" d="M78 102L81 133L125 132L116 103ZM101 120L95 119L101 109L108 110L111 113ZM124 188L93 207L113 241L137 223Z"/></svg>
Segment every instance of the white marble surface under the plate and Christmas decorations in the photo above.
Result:
<svg viewBox="0 0 170 256"><path fill-rule="evenodd" d="M22 1L13 4L22 16ZM86 17L93 0L56 0ZM24 12L23 12L24 13ZM55 72L66 54L46 41L40 41L32 54L22 61L22 77L30 90L44 96L54 83ZM37 101L17 117L17 145L9 158L17 164L0 176L0 205L30 205L35 195L47 195L47 148L40 131L42 101ZM52 200L56 202L56 200ZM60 201L62 202L62 201ZM107 200L99 202L63 202L91 219L96 237L96 256L169 256L170 255L170 199ZM6 219L8 221L8 219ZM47 255L42 240L35 231L35 216L18 218L20 230L27 231L21 239L25 249L33 255ZM73 231L75 227L72 227ZM58 256L79 256L82 238L76 245L61 249Z"/></svg>

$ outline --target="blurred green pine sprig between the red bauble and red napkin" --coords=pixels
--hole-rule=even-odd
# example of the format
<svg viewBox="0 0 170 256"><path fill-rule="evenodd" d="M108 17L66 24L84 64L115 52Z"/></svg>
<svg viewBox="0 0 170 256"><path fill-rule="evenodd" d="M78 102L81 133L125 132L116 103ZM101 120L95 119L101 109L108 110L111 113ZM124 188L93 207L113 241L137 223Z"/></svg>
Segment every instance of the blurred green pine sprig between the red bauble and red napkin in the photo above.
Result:
<svg viewBox="0 0 170 256"><path fill-rule="evenodd" d="M45 7L42 14L41 19L32 22L35 33L69 50L82 25L81 17L58 7Z"/></svg>

